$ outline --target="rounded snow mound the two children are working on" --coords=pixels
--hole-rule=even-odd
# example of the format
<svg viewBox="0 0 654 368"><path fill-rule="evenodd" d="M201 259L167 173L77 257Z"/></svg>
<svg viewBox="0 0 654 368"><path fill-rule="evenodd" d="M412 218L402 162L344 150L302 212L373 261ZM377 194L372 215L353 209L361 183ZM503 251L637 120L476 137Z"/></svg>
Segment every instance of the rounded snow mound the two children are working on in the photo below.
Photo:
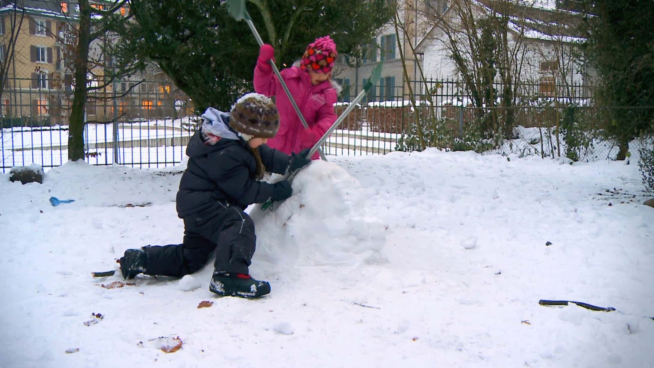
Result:
<svg viewBox="0 0 654 368"><path fill-rule="evenodd" d="M272 181L281 178L274 177ZM360 183L334 163L313 161L275 211L250 210L256 260L273 264L355 264L383 248L387 227L366 215Z"/></svg>

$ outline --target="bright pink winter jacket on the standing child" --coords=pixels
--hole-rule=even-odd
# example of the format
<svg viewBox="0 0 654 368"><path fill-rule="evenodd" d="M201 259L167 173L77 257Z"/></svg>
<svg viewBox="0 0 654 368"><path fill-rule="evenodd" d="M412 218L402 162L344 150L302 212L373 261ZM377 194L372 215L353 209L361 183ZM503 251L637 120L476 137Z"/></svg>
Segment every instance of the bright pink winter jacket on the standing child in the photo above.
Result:
<svg viewBox="0 0 654 368"><path fill-rule="evenodd" d="M254 90L268 97L275 96L275 105L279 111L279 131L275 138L268 139L269 147L278 149L286 155L313 147L336 121L334 112L336 90L329 80L312 86L309 73L299 67L293 66L280 71L288 90L307 121L309 129L305 129L284 88L274 75L272 67L266 66L268 65L262 67L257 64L254 68ZM318 158L320 158L318 153L311 156L312 160Z"/></svg>

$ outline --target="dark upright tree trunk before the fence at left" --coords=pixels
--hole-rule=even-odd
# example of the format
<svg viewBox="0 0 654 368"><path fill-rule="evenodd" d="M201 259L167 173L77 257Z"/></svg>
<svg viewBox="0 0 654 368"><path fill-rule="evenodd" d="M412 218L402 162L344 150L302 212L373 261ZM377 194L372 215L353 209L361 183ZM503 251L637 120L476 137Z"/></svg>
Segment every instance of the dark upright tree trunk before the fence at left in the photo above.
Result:
<svg viewBox="0 0 654 368"><path fill-rule="evenodd" d="M75 92L68 135L68 159L84 160L84 107L86 107L86 68L88 67L88 49L91 37L91 10L88 0L78 1L80 10L79 36L75 50Z"/></svg>

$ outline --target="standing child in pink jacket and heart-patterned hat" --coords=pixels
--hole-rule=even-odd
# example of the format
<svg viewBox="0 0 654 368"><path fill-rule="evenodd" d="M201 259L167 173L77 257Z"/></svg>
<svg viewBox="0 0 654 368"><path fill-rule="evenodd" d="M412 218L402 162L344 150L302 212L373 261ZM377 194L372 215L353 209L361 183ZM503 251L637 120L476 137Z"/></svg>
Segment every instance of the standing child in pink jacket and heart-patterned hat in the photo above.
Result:
<svg viewBox="0 0 654 368"><path fill-rule="evenodd" d="M299 66L280 71L293 99L309 126L305 129L298 113L288 100L284 88L273 73L269 60L275 55L271 45L262 45L254 67L254 90L275 96L279 111L279 131L268 145L290 155L311 148L336 121L334 103L336 89L332 86L332 69L336 61L336 44L329 36L319 37L307 46ZM312 160L320 158L318 153Z"/></svg>

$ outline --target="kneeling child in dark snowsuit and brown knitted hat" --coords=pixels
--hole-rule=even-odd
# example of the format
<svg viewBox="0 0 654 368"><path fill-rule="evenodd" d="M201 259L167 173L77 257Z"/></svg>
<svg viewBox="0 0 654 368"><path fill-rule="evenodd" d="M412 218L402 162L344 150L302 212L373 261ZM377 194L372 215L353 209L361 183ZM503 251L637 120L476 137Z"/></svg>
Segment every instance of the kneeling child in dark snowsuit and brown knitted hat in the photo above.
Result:
<svg viewBox="0 0 654 368"><path fill-rule="evenodd" d="M249 275L256 236L252 219L243 211L253 203L288 198L288 181L270 184L260 179L266 171L284 174L309 164L309 150L287 156L265 144L277 134L279 114L261 94L239 98L231 113L209 107L202 117L203 125L186 148L188 167L177 192L184 242L128 249L120 269L126 279L141 272L181 277L202 268L215 250L209 290L261 297L270 292L270 285Z"/></svg>

